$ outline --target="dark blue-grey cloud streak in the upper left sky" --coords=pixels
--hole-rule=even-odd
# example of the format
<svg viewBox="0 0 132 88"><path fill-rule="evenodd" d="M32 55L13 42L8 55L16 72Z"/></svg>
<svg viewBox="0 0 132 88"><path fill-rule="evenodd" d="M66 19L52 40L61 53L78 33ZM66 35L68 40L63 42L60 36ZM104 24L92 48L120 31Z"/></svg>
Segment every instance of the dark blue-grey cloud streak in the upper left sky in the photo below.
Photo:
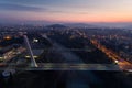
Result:
<svg viewBox="0 0 132 88"><path fill-rule="evenodd" d="M45 11L45 8L23 6L23 4L12 4L12 3L0 3L1 10L15 10L15 11Z"/></svg>

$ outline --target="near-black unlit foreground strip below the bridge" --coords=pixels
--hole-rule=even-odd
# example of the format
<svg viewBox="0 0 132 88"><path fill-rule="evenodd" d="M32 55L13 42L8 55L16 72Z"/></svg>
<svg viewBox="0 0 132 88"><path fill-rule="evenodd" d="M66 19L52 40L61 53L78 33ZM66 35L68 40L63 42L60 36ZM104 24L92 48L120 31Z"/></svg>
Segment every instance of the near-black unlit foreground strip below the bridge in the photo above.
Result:
<svg viewBox="0 0 132 88"><path fill-rule="evenodd" d="M0 77L0 88L132 88L127 72L37 70Z"/></svg>

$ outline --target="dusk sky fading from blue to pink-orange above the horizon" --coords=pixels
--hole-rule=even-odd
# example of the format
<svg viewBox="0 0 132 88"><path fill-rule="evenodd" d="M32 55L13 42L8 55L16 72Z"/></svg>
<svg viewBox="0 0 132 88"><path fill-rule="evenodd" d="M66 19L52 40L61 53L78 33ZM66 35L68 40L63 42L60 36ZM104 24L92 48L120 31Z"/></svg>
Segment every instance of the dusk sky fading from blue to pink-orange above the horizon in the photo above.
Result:
<svg viewBox="0 0 132 88"><path fill-rule="evenodd" d="M0 22L132 22L132 0L0 0Z"/></svg>

